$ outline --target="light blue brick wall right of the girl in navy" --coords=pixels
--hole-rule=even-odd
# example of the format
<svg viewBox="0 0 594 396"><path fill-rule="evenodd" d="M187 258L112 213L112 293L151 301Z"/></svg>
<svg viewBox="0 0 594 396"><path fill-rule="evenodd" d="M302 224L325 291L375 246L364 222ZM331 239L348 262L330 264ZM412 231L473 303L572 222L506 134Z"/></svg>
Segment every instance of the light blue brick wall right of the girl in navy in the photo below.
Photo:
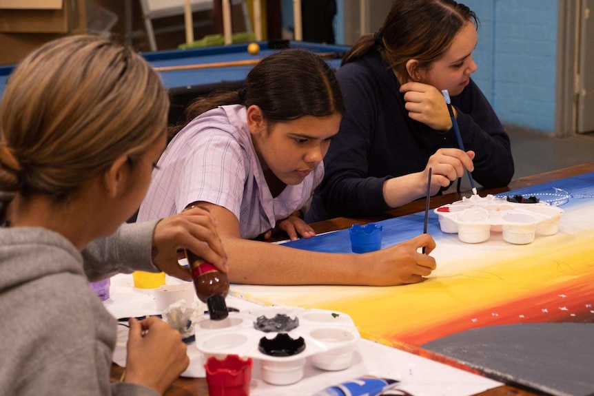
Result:
<svg viewBox="0 0 594 396"><path fill-rule="evenodd" d="M557 0L462 0L481 21L475 81L502 123L555 129Z"/></svg>

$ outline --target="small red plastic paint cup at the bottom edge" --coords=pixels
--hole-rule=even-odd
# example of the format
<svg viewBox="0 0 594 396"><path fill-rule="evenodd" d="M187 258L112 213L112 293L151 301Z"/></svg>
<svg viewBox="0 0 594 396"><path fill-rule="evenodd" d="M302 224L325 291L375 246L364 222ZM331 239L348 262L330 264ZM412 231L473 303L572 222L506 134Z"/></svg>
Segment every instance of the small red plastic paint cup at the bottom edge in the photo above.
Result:
<svg viewBox="0 0 594 396"><path fill-rule="evenodd" d="M248 396L252 381L252 358L227 355L225 359L209 357L204 365L209 396Z"/></svg>

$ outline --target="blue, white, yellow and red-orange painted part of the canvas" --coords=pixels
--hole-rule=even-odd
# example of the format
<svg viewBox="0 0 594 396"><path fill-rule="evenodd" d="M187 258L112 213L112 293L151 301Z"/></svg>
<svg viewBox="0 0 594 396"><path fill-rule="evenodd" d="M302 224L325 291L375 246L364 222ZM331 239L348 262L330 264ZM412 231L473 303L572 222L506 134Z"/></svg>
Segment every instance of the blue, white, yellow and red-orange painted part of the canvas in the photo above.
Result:
<svg viewBox="0 0 594 396"><path fill-rule="evenodd" d="M259 304L345 312L362 337L446 362L460 359L434 355L423 346L487 326L594 323L594 173L506 195L534 196L564 209L557 233L537 235L529 244L511 244L502 233L491 231L487 241L469 244L456 234L443 233L431 211L428 232L437 243L431 254L438 269L425 282L387 287L283 286L282 293L277 286L233 285L232 294ZM423 222L424 213L378 222L384 229L382 247L422 233ZM351 252L348 230L286 245Z"/></svg>

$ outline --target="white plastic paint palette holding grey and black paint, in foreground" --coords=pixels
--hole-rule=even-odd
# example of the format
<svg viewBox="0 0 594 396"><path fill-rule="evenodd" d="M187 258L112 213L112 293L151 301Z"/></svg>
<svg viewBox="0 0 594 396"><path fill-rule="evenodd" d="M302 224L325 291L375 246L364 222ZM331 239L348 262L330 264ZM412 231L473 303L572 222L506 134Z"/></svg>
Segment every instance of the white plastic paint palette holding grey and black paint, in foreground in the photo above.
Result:
<svg viewBox="0 0 594 396"><path fill-rule="evenodd" d="M297 318L299 325L291 331L265 333L254 328L260 316L268 319L276 315ZM317 368L327 371L344 370L351 366L359 331L349 315L321 309L263 307L246 312L229 312L224 320L210 320L208 315L194 325L196 348L205 359L226 355L252 357L260 362L260 376L269 384L294 384L303 378L306 359ZM274 339L286 333L293 340L303 337L305 349L289 356L272 356L260 352L258 345L263 337Z"/></svg>

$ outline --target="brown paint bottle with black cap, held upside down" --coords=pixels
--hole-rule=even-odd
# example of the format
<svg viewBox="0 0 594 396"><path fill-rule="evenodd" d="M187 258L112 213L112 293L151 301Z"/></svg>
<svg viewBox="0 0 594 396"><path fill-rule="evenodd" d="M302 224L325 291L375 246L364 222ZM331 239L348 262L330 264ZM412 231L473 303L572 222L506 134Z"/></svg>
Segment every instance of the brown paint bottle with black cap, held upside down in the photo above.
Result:
<svg viewBox="0 0 594 396"><path fill-rule="evenodd" d="M190 263L192 280L196 295L201 302L208 306L208 313L211 320L223 320L229 312L225 297L229 293L229 280L227 274L218 271L214 265L205 262L191 251L185 249L185 257Z"/></svg>

